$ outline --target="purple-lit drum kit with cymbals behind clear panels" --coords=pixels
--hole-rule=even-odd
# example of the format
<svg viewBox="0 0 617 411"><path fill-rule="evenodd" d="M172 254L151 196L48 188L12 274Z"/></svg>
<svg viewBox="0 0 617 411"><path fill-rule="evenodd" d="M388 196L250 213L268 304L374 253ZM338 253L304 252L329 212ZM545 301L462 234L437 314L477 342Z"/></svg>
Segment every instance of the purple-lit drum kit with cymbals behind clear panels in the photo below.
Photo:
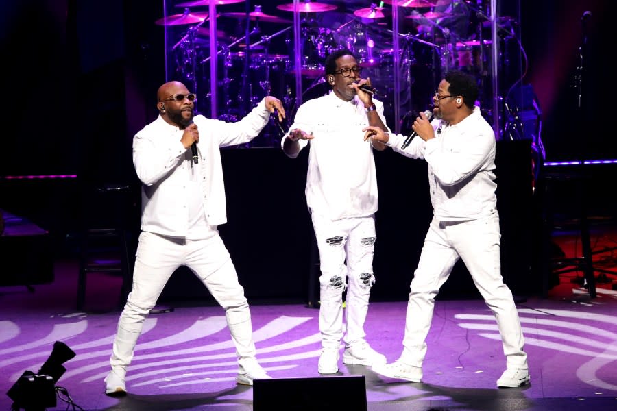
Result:
<svg viewBox="0 0 617 411"><path fill-rule="evenodd" d="M341 48L354 53L363 68L362 77L371 77L374 84L380 84L378 98L385 103L392 100L389 97L395 92L389 86L395 62L400 64L404 86L413 90L422 89L420 84L426 85L420 96L413 96L409 89L399 90L409 97L401 101L409 103L408 110L423 110L441 75L449 69L480 76L489 73L491 41L485 21L478 17L482 10L475 9L488 6L476 5L476 1L472 4L452 0L384 0L379 5L347 10L345 1L335 5L305 0L276 7L269 4L267 10L271 12L265 12L261 6L247 12L245 4L241 5L244 12L226 10L235 3L245 0L215 0L221 67L217 77L222 77L217 82L217 94L221 96L217 105L221 112L232 113L231 120L243 116L270 93L282 99L286 109L290 108L295 101L292 85L297 73L302 77L302 90L323 83L326 57ZM206 63L211 58L209 5L210 0L179 3L176 7L184 8L184 12L155 22L177 33L180 40L172 47L176 75L193 82L195 90L199 81L210 83L209 79L206 81L210 73ZM398 8L398 26L406 31L398 34L398 58L393 55L392 8ZM300 12L299 51L293 47L295 9ZM509 25L513 19L501 18L500 22ZM265 35L267 30L274 33ZM254 36L261 37L256 40ZM300 67L295 64L296 53L301 56ZM428 78L417 81L425 76ZM411 87L413 84L416 86ZM200 103L207 104L207 97L200 99ZM307 96L303 93L303 97Z"/></svg>

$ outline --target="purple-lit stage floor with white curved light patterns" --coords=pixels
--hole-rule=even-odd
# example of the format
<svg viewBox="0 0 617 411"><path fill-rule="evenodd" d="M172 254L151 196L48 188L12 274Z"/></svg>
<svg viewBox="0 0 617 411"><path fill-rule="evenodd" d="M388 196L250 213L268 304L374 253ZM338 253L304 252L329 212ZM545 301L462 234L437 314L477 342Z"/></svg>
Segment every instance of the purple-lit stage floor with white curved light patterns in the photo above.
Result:
<svg viewBox="0 0 617 411"><path fill-rule="evenodd" d="M93 286L92 309L75 312L74 264L58 262L56 281L35 292L0 288L1 410L12 403L4 393L25 370L38 371L58 340L77 355L64 363L57 385L84 410L253 409L253 388L234 383L234 349L219 306L178 304L173 312L149 316L128 372L128 396L104 395L120 279ZM365 375L368 410L615 410L617 292L600 287L590 299L584 288L564 286L548 298L518 303L530 386L496 388L505 358L493 316L477 300L437 301L422 383L387 379L342 361L337 375ZM250 302L258 360L272 377L328 378L317 373L315 308ZM367 340L389 362L402 349L406 306L374 302L369 309ZM290 404L294 409L302 408Z"/></svg>

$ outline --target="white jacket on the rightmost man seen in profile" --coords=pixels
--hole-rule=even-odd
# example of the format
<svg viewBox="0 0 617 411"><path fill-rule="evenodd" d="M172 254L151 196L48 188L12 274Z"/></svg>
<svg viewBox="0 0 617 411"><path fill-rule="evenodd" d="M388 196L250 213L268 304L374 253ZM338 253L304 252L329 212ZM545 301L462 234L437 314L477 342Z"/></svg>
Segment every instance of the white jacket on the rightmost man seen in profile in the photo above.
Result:
<svg viewBox="0 0 617 411"><path fill-rule="evenodd" d="M405 136L390 134L387 145L407 157L426 160L435 217L439 221L464 221L494 214L495 134L480 109L474 108L456 125L439 120L431 124L437 129L436 138L425 142L415 136L402 150Z"/></svg>

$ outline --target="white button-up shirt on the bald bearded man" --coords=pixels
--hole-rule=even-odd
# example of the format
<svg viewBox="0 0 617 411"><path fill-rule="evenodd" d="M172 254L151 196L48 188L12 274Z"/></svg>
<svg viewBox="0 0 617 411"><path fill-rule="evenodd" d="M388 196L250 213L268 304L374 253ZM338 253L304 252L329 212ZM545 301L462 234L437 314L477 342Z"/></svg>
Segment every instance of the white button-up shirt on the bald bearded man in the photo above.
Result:
<svg viewBox="0 0 617 411"><path fill-rule="evenodd" d="M262 100L237 123L197 115L199 163L180 139L184 132L162 117L133 138L133 164L141 180L141 229L165 236L204 238L209 227L227 222L219 147L255 138L269 120Z"/></svg>

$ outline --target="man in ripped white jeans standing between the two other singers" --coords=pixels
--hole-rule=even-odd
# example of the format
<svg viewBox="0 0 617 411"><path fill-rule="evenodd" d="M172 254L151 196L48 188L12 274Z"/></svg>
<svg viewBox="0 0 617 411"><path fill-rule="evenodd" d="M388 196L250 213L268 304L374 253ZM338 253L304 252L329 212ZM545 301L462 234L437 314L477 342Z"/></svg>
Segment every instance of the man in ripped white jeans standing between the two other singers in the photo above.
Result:
<svg viewBox="0 0 617 411"><path fill-rule="evenodd" d="M332 92L300 105L281 146L285 154L296 158L311 142L305 194L321 268L322 353L317 369L334 374L339 371L341 340L345 343L344 364L386 362L385 356L367 343L364 332L375 282L374 216L378 202L373 149L381 151L386 146L363 140L363 128L387 127L383 103L372 99L370 81L361 78L361 68L349 50L328 55L325 69ZM343 290L347 290L344 338Z"/></svg>

